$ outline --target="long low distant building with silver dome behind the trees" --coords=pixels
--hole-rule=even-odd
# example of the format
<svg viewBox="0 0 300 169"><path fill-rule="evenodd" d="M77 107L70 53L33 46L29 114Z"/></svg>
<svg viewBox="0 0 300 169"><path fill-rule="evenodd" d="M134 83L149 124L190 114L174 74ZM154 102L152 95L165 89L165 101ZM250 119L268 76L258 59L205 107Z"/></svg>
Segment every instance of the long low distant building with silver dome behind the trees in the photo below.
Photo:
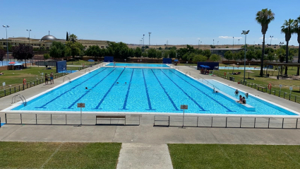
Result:
<svg viewBox="0 0 300 169"><path fill-rule="evenodd" d="M53 35L44 35L42 39L28 39L28 37L8 37L8 44L12 46L18 46L19 44L31 45L34 49L40 49L44 47L44 49L50 49L52 42L62 42L66 43L64 39L56 39ZM80 42L85 48L88 48L92 45L98 45L100 48L106 48L108 46L107 40L76 40L76 42ZM0 40L0 46L6 49L6 39L2 38Z"/></svg>

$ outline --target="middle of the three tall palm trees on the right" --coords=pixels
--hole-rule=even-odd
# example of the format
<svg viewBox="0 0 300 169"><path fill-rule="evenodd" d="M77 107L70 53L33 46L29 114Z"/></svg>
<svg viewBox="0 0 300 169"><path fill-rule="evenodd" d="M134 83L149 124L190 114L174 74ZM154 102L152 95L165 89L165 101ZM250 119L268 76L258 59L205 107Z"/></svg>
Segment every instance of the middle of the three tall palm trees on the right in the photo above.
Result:
<svg viewBox="0 0 300 169"><path fill-rule="evenodd" d="M281 33L285 34L285 41L287 42L287 45L285 46L285 62L289 62L289 40L291 39L293 30L293 23L294 19L289 18L289 21L284 20L284 23L281 27ZM287 66L285 66L285 75L287 75Z"/></svg>

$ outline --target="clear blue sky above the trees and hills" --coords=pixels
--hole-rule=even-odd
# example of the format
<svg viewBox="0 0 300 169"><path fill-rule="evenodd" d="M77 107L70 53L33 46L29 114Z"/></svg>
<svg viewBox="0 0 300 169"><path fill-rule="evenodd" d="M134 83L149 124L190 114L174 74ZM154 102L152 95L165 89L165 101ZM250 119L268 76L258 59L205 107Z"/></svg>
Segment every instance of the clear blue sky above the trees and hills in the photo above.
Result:
<svg viewBox="0 0 300 169"><path fill-rule="evenodd" d="M263 35L256 23L257 11L270 8L275 21L269 25L266 43L284 41L280 27L284 20L300 16L299 0L287 1L1 1L0 24L10 25L8 37L41 38L54 35L66 38L66 31L79 39L111 40L139 44L145 34L145 44L152 45L219 45L244 44L241 30L250 30L247 43L261 44ZM0 37L6 38L5 28ZM241 39L240 42L238 39ZM285 44L285 41L284 41ZM291 45L298 46L296 35Z"/></svg>

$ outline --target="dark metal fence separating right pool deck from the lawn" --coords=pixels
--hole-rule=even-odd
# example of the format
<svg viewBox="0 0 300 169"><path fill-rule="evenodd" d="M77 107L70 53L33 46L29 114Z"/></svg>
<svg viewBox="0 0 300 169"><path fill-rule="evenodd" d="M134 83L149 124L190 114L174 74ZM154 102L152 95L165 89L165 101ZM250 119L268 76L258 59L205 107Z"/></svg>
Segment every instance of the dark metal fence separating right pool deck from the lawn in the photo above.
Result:
<svg viewBox="0 0 300 169"><path fill-rule="evenodd" d="M227 80L234 79L234 77L232 77L232 76L224 76L224 74L219 74L217 72L214 72L214 75L218 76L220 78L227 79ZM280 91L280 90L277 90L277 89L272 89L272 88L269 89L268 86L263 86L263 85L256 84L256 83L247 83L247 81L244 82L242 80L239 80L239 81L236 81L236 82L240 83L241 85L248 86L250 88L255 88L258 91L261 91L261 92L264 92L264 93L269 93L270 95L276 95L280 98L291 100L295 103L300 103L300 96L299 95L294 95L292 93L287 93L287 92Z"/></svg>

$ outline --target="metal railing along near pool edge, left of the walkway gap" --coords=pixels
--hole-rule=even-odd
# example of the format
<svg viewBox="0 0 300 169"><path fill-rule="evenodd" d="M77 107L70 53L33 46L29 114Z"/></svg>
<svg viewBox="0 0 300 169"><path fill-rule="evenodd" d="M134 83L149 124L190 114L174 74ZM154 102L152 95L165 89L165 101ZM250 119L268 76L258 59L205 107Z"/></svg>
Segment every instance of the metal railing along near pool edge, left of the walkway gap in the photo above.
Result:
<svg viewBox="0 0 300 169"><path fill-rule="evenodd" d="M83 113L5 113L6 124L39 124L39 125L96 125L109 124L107 120L97 120L103 114ZM124 121L124 120L120 120ZM119 123L119 122L118 122ZM116 123L116 125L118 124ZM126 115L125 125L140 125L140 115Z"/></svg>

